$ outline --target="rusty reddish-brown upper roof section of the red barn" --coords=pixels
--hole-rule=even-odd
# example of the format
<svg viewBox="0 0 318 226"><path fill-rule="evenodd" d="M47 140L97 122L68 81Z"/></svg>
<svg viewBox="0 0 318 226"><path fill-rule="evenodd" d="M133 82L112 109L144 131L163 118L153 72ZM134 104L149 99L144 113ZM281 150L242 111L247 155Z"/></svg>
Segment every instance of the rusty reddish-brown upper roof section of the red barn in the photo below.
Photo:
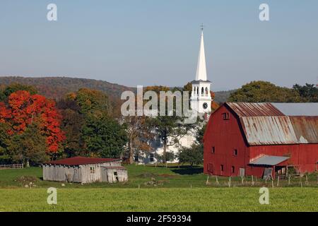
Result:
<svg viewBox="0 0 318 226"><path fill-rule="evenodd" d="M276 107L273 107L271 103L227 102L226 105L228 105L239 117L285 115Z"/></svg>

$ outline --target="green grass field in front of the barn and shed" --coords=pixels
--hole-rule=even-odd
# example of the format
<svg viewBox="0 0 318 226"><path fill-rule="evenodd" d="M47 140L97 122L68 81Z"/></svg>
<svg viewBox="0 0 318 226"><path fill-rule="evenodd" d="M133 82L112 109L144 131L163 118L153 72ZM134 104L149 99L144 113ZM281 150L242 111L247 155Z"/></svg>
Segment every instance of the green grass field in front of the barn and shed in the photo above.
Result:
<svg viewBox="0 0 318 226"><path fill-rule="evenodd" d="M210 177L201 167L126 166L124 184L67 184L42 181L42 169L0 170L0 211L318 211L317 176L264 182ZM28 176L33 184L30 188ZM272 185L274 187L272 188ZM302 187L301 187L302 185ZM47 188L57 188L57 205L47 204ZM269 187L269 205L259 204L259 188ZM283 187L282 187L283 186ZM140 187L140 189L138 189Z"/></svg>

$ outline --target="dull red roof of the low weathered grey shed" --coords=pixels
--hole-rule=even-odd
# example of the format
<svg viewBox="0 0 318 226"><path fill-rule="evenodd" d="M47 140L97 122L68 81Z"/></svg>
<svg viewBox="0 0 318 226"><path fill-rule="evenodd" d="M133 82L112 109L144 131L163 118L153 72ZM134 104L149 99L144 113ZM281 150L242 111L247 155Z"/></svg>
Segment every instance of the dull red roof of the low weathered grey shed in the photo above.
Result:
<svg viewBox="0 0 318 226"><path fill-rule="evenodd" d="M114 162L119 161L116 158L101 158L101 157L69 157L63 160L55 160L51 162L45 162L46 165L89 165L102 162Z"/></svg>

